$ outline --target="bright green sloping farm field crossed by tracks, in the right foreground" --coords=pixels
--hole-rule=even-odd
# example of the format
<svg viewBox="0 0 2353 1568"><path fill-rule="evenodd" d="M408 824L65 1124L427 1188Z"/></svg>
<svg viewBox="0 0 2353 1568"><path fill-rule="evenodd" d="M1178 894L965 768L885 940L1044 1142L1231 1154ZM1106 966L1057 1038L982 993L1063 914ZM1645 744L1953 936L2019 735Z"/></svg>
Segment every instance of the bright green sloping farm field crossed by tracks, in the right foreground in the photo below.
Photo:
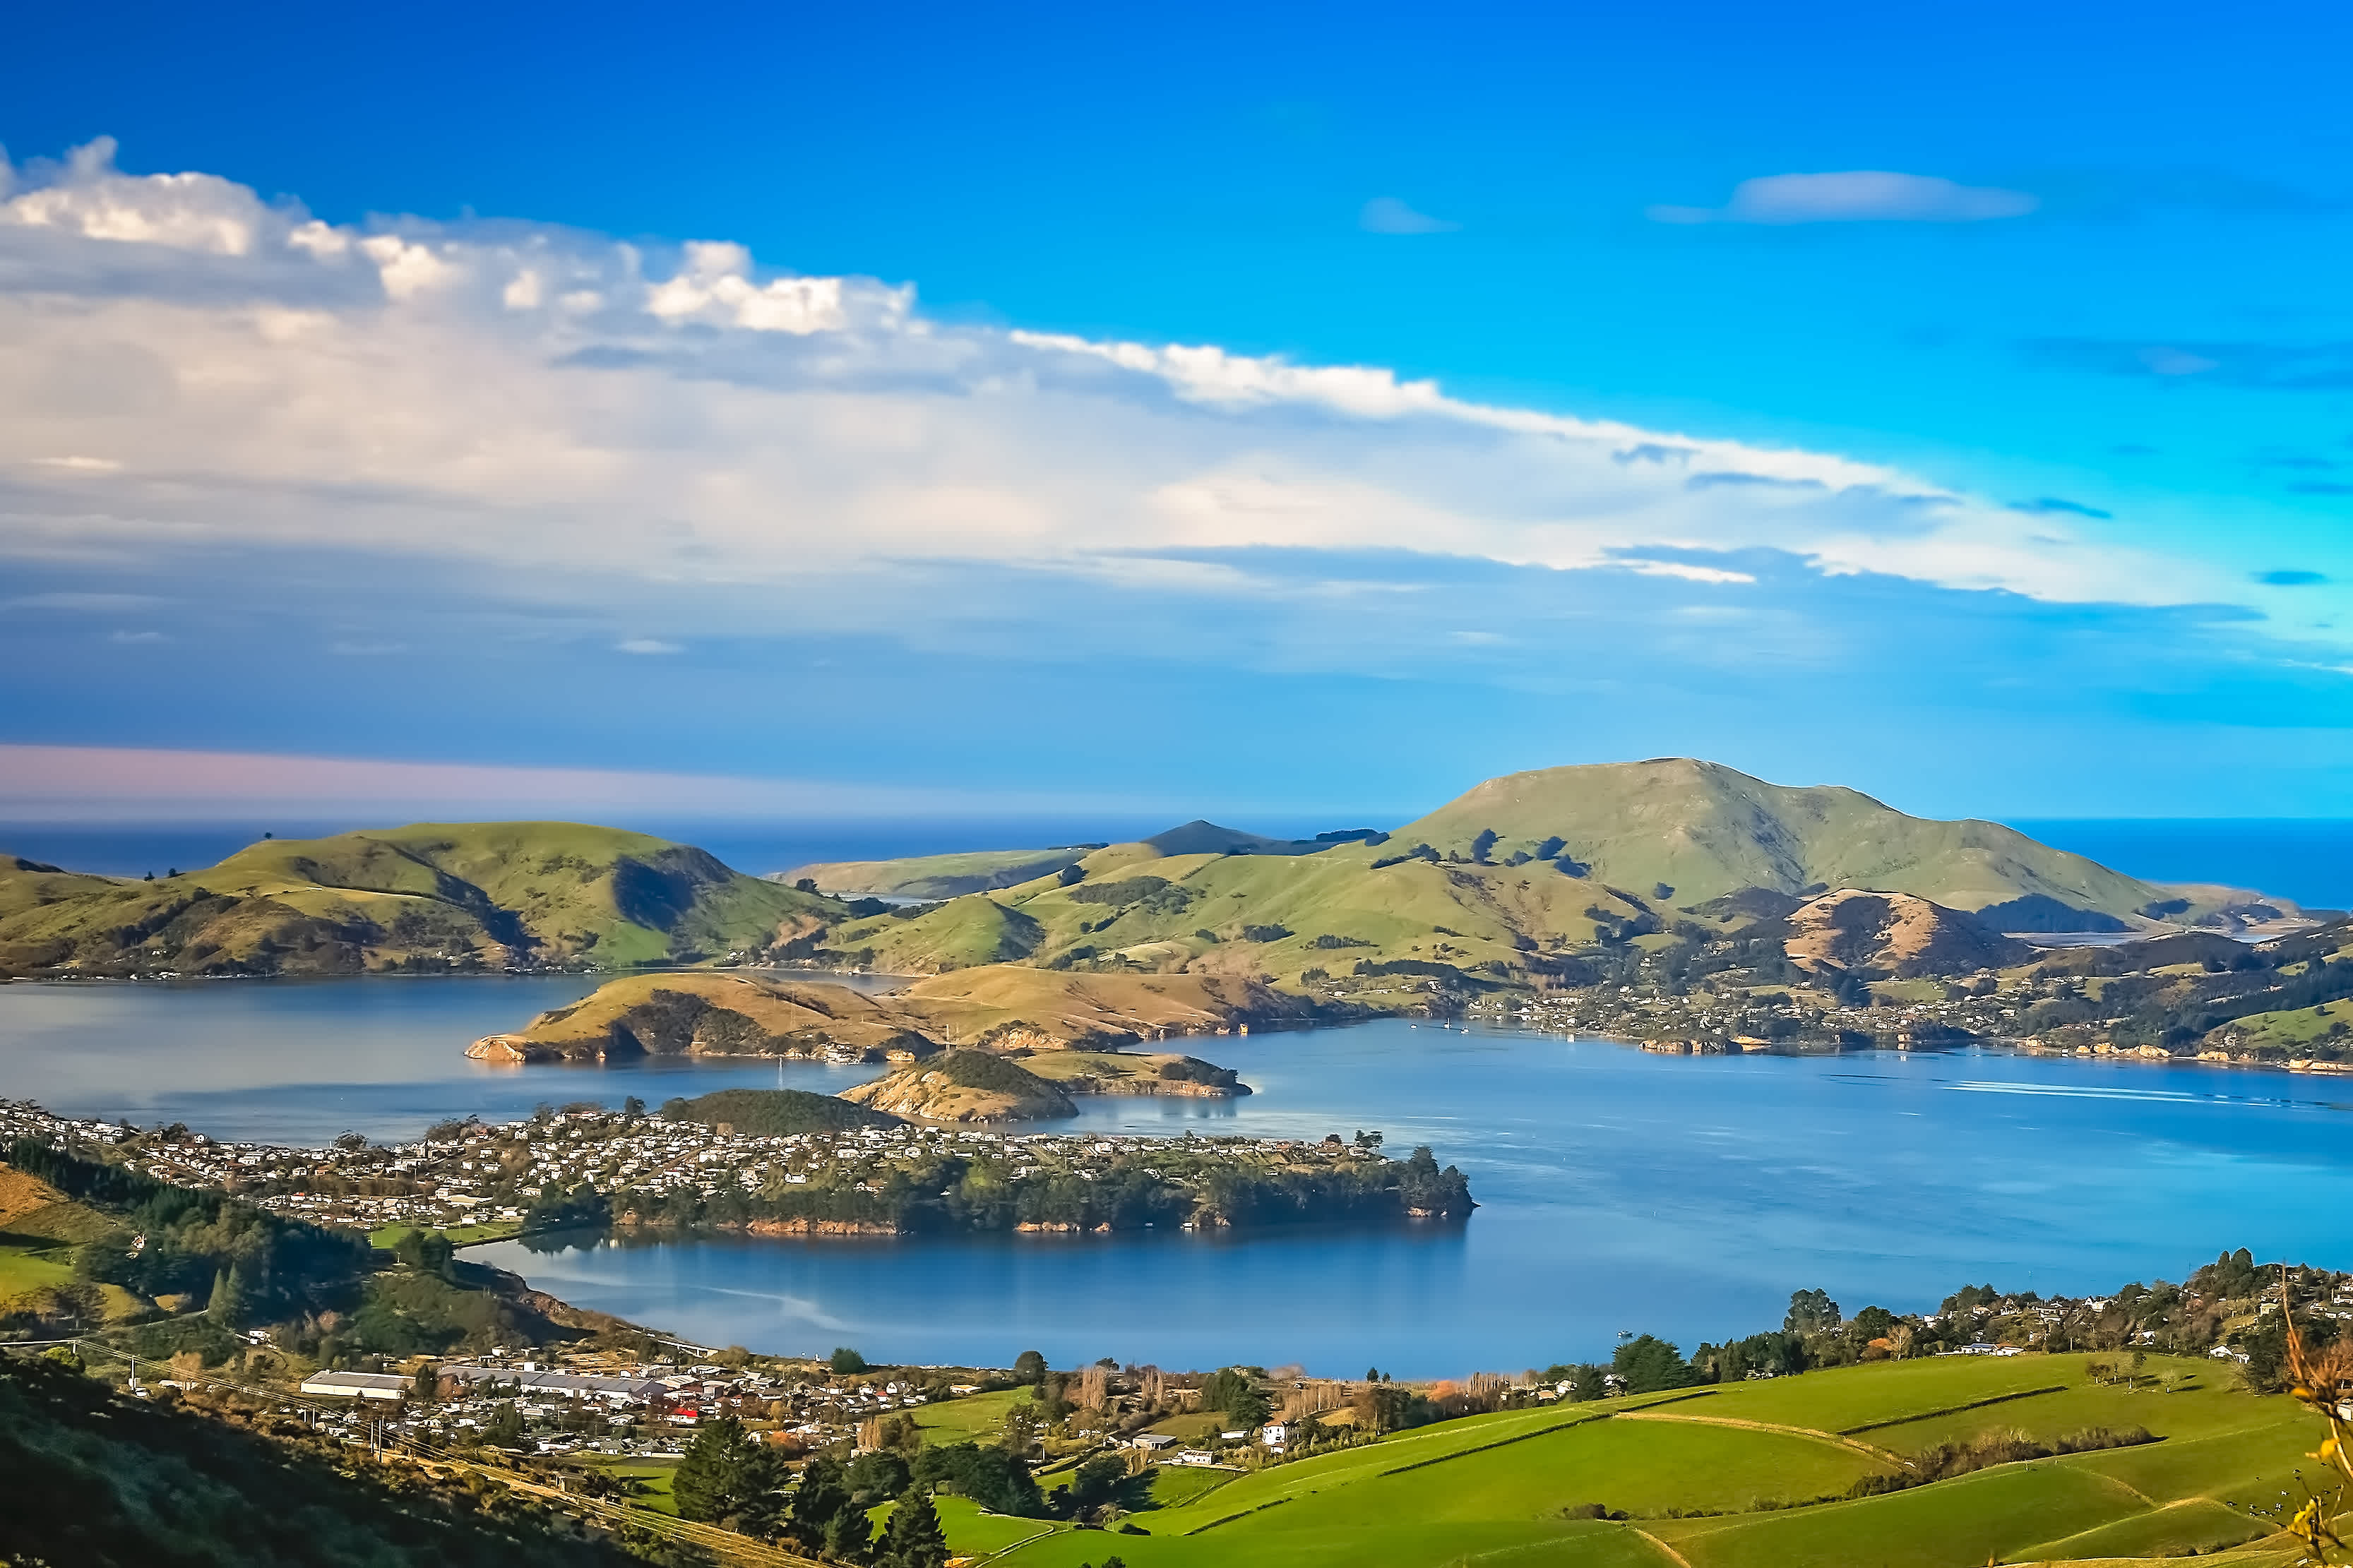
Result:
<svg viewBox="0 0 2353 1568"><path fill-rule="evenodd" d="M958 1512L948 1542L1007 1568L1341 1568L1379 1561L1562 1568L1979 1568L2219 1554L2289 1563L2257 1507L2301 1495L2320 1425L2212 1361L2151 1356L2097 1385L2092 1356L1894 1361L1682 1394L1480 1415L1242 1474L1155 1486L1148 1535L1054 1528L1007 1544ZM2045 1446L2106 1427L2153 1443L1991 1465L1849 1497L1939 1443ZM1598 1509L1612 1519L1593 1519ZM1624 1519L1617 1519L1624 1514ZM995 1530L981 1530L995 1526Z"/></svg>

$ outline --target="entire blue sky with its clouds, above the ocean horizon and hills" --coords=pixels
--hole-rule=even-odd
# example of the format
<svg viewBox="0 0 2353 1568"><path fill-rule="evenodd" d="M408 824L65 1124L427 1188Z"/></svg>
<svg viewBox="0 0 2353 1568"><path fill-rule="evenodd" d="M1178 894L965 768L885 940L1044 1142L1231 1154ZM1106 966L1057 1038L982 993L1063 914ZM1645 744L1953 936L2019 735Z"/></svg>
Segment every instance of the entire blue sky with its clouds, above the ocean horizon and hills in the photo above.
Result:
<svg viewBox="0 0 2353 1568"><path fill-rule="evenodd" d="M2341 12L1626 9L19 24L0 816L2341 813Z"/></svg>

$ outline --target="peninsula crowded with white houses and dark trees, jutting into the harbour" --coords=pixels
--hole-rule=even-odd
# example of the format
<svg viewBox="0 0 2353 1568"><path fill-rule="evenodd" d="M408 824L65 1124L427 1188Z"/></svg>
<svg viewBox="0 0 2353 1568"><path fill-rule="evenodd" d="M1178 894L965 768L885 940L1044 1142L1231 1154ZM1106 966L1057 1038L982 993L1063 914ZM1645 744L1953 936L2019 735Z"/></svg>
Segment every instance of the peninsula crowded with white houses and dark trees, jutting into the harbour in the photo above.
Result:
<svg viewBox="0 0 2353 1568"><path fill-rule="evenodd" d="M376 1145L224 1143L186 1126L68 1121L0 1103L0 1140L108 1145L115 1159L186 1187L219 1187L313 1225L464 1232L464 1239L562 1225L718 1225L800 1232L899 1232L976 1190L998 1201L969 1227L1176 1229L1278 1218L1466 1213L1461 1175L1426 1150L1381 1154L1379 1133L1292 1138L1139 1138L856 1126L784 1135L727 1121L647 1114L640 1100L541 1107L522 1121L442 1121ZM941 1182L951 1182L944 1192ZM1271 1194L1271 1197L1268 1197Z"/></svg>

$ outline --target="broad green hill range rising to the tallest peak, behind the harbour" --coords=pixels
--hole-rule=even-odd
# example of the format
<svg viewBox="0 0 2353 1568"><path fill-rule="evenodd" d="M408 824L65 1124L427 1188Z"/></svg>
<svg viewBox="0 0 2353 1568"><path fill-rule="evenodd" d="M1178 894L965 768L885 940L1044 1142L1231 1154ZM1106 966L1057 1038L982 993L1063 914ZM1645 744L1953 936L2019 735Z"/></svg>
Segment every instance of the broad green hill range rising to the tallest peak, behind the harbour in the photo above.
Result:
<svg viewBox="0 0 2353 1568"><path fill-rule="evenodd" d="M1906 973L2017 964L2005 931L2240 931L2297 914L2125 877L1998 823L1668 757L1494 778L1372 839L1249 842L1186 823L1028 882L833 926L812 952L887 973L1113 966L1299 985L1438 964L1567 978L1574 954L1678 929L1722 936L1849 891L1941 910L1944 936L1897 954ZM1962 922L1984 938L1962 940ZM1925 940L1918 926L1904 943Z"/></svg>

